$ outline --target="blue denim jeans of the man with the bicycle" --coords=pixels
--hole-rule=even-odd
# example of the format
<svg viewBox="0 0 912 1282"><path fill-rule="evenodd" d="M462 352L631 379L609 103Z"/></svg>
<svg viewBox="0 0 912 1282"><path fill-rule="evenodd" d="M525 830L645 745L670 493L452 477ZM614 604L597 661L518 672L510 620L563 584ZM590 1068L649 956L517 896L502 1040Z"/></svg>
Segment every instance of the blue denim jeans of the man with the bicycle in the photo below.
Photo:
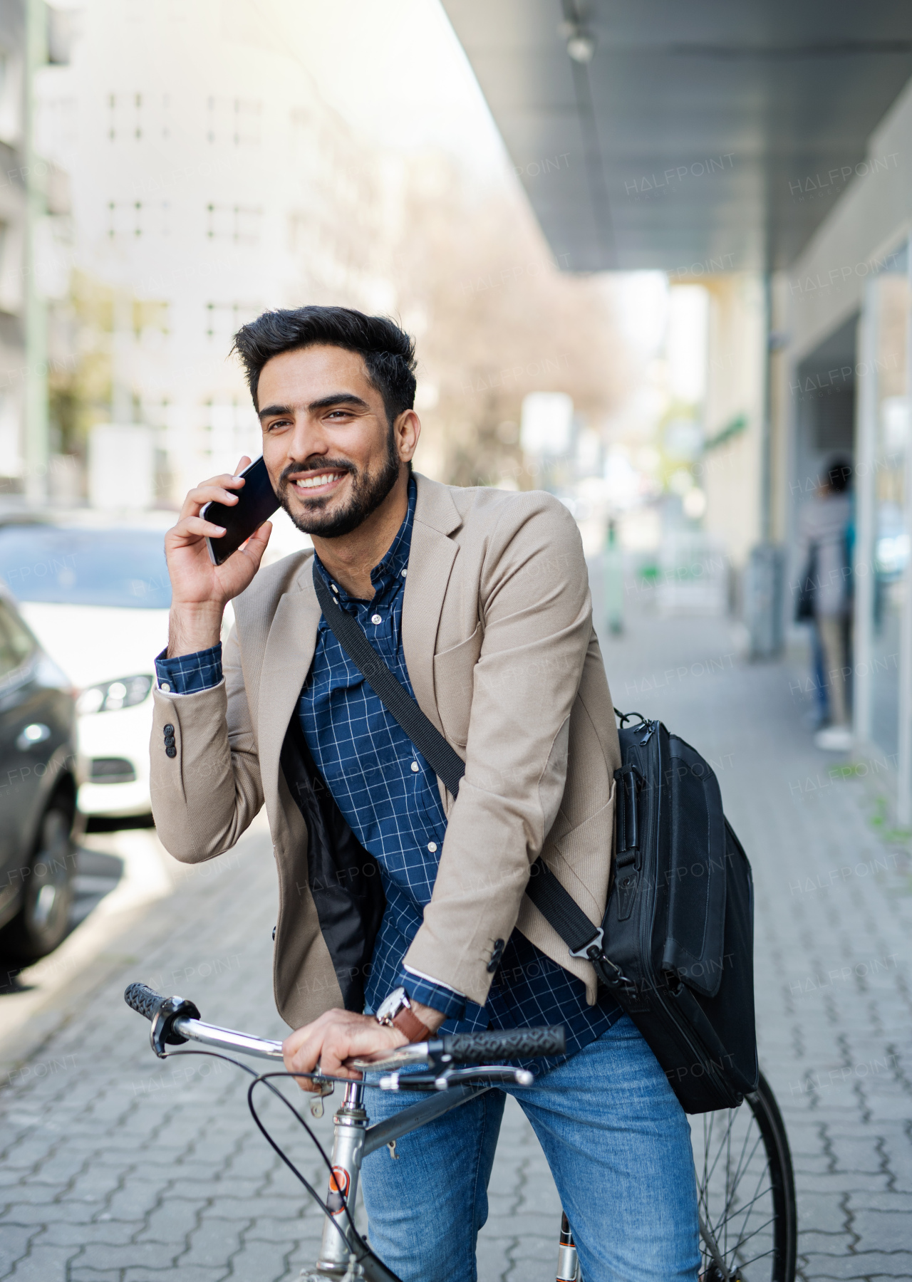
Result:
<svg viewBox="0 0 912 1282"><path fill-rule="evenodd" d="M585 1282L695 1282L690 1127L631 1019L535 1086L507 1090L548 1158ZM376 1087L366 1095L372 1122L426 1099ZM364 1159L371 1246L403 1282L476 1282L504 1103L489 1091L398 1140L399 1160L386 1149Z"/></svg>

